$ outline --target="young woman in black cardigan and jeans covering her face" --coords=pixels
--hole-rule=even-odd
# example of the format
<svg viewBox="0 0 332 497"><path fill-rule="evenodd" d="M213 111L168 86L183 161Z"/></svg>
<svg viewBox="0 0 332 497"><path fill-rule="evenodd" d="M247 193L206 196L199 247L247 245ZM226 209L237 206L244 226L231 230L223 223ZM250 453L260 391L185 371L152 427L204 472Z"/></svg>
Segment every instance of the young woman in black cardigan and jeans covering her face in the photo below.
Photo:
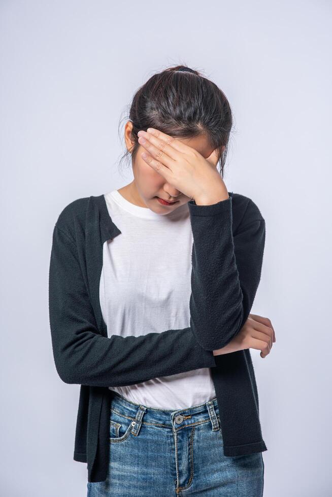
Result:
<svg viewBox="0 0 332 497"><path fill-rule="evenodd" d="M71 202L54 227L53 354L81 385L89 497L262 495L249 349L266 357L275 334L250 314L265 223L223 182L231 127L214 83L185 66L155 74L125 124L134 180Z"/></svg>

